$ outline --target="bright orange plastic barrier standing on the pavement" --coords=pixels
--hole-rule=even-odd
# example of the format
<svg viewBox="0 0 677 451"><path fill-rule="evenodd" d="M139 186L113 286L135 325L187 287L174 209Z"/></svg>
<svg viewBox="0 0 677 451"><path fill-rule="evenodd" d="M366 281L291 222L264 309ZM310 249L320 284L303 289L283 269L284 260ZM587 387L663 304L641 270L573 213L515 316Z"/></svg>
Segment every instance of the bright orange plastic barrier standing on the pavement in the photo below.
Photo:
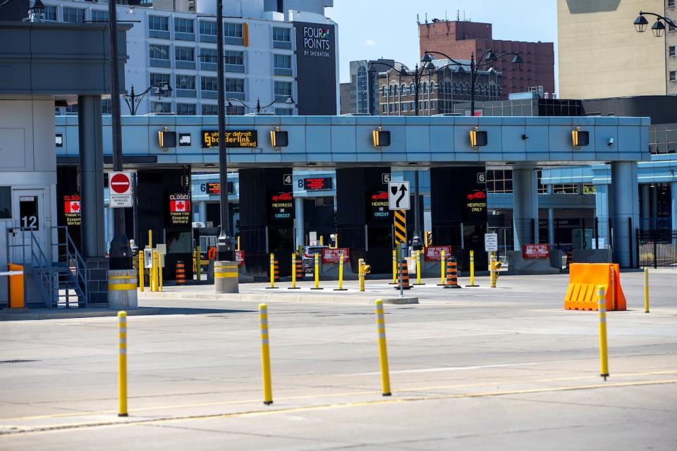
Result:
<svg viewBox="0 0 677 451"><path fill-rule="evenodd" d="M621 288L621 273L618 269L618 264L611 263L572 263L569 266L569 287L564 298L564 309L597 310L597 288L603 285L606 310L625 310L626 296Z"/></svg>

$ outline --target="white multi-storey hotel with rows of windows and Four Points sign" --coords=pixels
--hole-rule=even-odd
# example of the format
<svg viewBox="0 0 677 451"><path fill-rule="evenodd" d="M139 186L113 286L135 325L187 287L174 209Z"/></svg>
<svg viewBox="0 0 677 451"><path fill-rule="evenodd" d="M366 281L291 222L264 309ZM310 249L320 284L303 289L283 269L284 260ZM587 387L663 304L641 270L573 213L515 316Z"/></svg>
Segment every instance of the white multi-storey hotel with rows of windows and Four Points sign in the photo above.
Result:
<svg viewBox="0 0 677 451"><path fill-rule="evenodd" d="M123 2L127 0L118 0ZM117 10L118 21L132 25L127 32L126 86L121 89L130 94L134 88L135 113L216 115L216 0L128 2L138 5L119 4ZM44 0L44 4L45 20L108 20L106 0ZM276 115L324 114L332 101L338 109L338 27L324 16L327 6L333 6L333 0L224 0L227 114L250 113L257 101L261 106L270 104L265 111ZM331 30L319 33L331 37L331 58L299 52L298 44L312 45L302 36L313 35L308 24ZM331 76L322 80L327 95L319 97L316 89L299 89L304 75L312 85L310 72L318 63L334 66L329 72L333 80ZM307 74L300 73L300 67ZM152 88L139 100L148 87L159 83L167 83L171 90ZM288 103L289 97L294 104ZM128 102L129 98L121 100L123 115L132 113ZM77 108L77 104L59 107L56 113L74 114ZM110 100L104 99L103 109L110 112ZM336 111L330 108L329 113Z"/></svg>

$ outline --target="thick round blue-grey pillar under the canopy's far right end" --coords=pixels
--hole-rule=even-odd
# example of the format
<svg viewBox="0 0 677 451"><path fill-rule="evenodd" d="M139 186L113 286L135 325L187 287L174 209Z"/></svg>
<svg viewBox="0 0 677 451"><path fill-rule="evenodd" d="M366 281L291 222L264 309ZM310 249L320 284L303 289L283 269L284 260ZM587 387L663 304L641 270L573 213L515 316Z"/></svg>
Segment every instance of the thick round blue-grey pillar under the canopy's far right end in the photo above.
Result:
<svg viewBox="0 0 677 451"><path fill-rule="evenodd" d="M623 268L632 268L637 261L635 229L640 218L636 161L611 163L609 200L614 226L614 261Z"/></svg>

